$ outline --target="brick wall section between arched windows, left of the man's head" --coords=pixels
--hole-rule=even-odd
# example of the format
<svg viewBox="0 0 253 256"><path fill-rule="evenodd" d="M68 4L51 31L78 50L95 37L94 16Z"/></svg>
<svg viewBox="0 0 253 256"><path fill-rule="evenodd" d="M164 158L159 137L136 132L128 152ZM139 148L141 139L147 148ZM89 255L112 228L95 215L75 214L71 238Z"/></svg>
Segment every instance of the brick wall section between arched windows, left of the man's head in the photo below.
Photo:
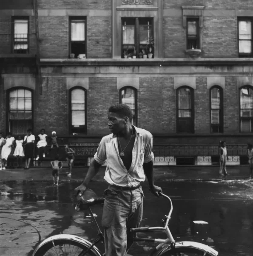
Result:
<svg viewBox="0 0 253 256"><path fill-rule="evenodd" d="M109 134L108 108L119 103L117 78L90 78L87 100L88 134Z"/></svg>

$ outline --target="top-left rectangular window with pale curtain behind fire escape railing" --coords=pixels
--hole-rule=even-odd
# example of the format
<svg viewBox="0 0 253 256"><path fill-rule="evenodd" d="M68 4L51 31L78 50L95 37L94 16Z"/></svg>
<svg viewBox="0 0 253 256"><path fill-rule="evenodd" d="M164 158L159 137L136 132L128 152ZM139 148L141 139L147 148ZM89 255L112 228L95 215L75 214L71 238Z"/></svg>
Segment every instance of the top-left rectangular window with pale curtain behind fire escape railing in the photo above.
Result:
<svg viewBox="0 0 253 256"><path fill-rule="evenodd" d="M28 18L14 18L13 52L28 53Z"/></svg>

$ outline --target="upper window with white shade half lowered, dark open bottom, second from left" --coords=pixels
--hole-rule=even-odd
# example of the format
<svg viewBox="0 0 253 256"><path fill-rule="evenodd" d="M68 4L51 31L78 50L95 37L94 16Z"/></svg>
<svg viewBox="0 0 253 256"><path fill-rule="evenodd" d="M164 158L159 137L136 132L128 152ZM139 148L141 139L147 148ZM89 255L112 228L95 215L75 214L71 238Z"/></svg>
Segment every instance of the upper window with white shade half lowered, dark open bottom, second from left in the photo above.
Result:
<svg viewBox="0 0 253 256"><path fill-rule="evenodd" d="M85 18L70 18L70 53L74 53L74 57L86 57L86 31Z"/></svg>

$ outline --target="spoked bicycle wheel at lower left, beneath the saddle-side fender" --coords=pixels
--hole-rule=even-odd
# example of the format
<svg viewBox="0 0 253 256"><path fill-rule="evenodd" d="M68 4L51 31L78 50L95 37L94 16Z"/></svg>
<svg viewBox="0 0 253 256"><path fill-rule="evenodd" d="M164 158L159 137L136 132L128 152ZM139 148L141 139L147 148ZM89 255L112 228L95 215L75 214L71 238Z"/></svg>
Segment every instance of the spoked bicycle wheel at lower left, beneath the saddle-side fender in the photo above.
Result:
<svg viewBox="0 0 253 256"><path fill-rule="evenodd" d="M83 254L86 250L88 250L88 247L78 241L57 239L48 241L34 254L34 256L97 256L97 254L91 250Z"/></svg>

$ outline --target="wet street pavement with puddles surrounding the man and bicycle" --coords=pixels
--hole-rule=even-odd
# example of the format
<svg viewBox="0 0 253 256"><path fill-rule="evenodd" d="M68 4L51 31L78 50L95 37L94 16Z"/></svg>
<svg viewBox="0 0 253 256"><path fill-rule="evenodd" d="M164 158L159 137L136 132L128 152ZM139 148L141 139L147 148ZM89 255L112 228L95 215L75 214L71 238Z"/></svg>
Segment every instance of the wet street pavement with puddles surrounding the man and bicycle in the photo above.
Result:
<svg viewBox="0 0 253 256"><path fill-rule="evenodd" d="M55 234L74 234L94 239L97 230L88 212L75 212L73 190L80 181L62 178L52 181L2 180L0 182L0 255L31 256L37 244ZM156 199L143 183L142 226L160 226L168 204ZM177 241L199 241L215 248L221 256L253 255L253 182L244 180L156 181L171 196L171 232ZM102 180L90 183L97 195L107 187ZM100 223L102 207L93 207ZM205 221L208 224L195 224ZM165 238L162 233L139 234ZM144 256L153 244L136 242L129 253ZM102 247L100 247L102 248Z"/></svg>

